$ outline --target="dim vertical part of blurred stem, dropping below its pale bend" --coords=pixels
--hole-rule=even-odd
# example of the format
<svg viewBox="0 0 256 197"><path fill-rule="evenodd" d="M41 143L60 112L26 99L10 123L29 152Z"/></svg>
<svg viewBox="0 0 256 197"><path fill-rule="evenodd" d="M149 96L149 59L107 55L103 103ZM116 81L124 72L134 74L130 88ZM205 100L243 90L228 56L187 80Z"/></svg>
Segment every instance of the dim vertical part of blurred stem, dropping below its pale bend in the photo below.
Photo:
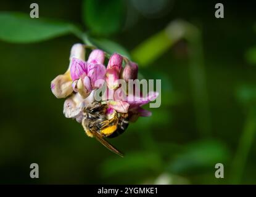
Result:
<svg viewBox="0 0 256 197"><path fill-rule="evenodd" d="M202 136L209 136L210 110L209 98L206 87L204 67L204 53L202 49L202 36L199 30L189 31L189 75L191 80L192 98L196 112L196 124Z"/></svg>

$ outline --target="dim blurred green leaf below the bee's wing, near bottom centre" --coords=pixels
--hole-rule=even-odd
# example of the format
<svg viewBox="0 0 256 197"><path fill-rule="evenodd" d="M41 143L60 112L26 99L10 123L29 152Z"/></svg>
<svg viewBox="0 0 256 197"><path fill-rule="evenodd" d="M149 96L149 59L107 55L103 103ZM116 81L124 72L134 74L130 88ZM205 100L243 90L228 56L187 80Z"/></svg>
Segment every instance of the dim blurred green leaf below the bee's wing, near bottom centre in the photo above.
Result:
<svg viewBox="0 0 256 197"><path fill-rule="evenodd" d="M161 165L161 159L157 153L137 152L128 153L124 158L107 159L102 164L101 171L104 177L110 177L123 172L158 171Z"/></svg>

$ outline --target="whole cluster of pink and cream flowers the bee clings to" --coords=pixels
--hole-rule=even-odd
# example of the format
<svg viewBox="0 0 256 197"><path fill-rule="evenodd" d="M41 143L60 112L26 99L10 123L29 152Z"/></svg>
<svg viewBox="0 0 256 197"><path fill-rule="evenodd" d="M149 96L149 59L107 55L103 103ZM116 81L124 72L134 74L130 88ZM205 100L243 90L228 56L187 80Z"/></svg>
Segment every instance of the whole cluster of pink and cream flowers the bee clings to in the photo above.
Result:
<svg viewBox="0 0 256 197"><path fill-rule="evenodd" d="M83 108L93 103L96 89L107 84L106 92L100 100L107 103L106 115L128 113L130 121L136 121L139 116L151 116L151 111L144 110L143 105L155 100L157 92L141 93L127 92L129 79L138 78L138 65L125 58L126 65L123 68L123 57L113 54L108 62L107 69L104 66L104 52L95 49L91 52L87 62L85 61L85 46L74 44L70 52L70 65L64 74L60 74L51 82L51 90L57 98L65 98L64 115L67 118L75 118L81 123ZM118 81L124 79L124 81ZM120 84L119 84L120 82ZM125 88L124 88L125 87Z"/></svg>

